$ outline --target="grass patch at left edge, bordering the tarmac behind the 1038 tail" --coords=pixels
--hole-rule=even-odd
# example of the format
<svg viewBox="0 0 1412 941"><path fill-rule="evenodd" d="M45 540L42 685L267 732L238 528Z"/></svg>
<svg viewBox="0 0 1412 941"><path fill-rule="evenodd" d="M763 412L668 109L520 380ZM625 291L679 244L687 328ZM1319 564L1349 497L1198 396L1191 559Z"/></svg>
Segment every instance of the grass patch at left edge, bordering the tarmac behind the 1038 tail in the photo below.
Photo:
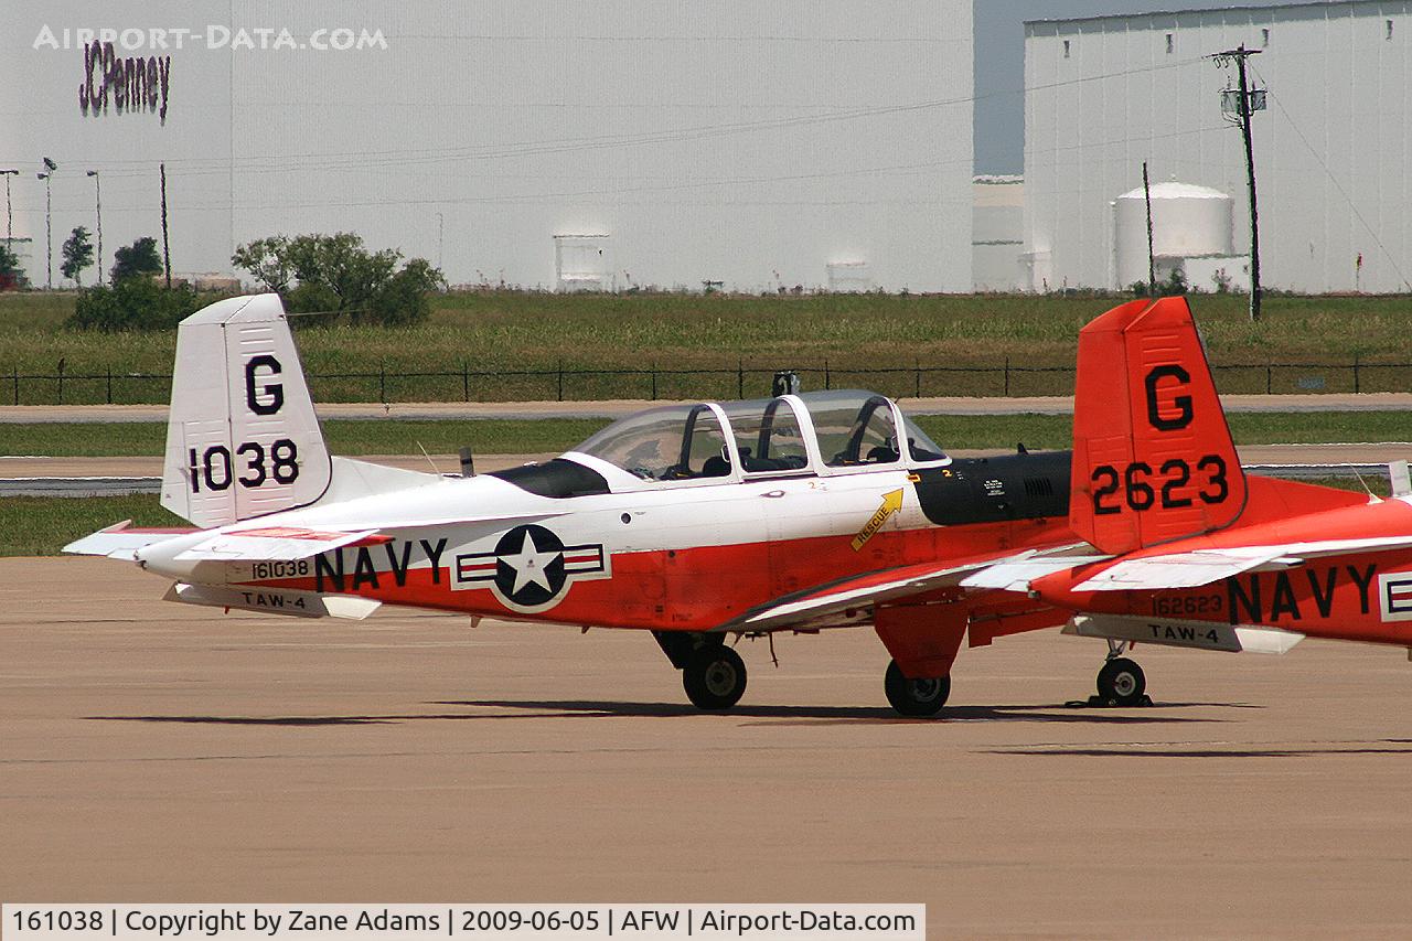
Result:
<svg viewBox="0 0 1412 941"><path fill-rule="evenodd" d="M7 497L0 500L0 555L58 555L68 543L121 520L134 526L189 526L155 495L127 497Z"/></svg>

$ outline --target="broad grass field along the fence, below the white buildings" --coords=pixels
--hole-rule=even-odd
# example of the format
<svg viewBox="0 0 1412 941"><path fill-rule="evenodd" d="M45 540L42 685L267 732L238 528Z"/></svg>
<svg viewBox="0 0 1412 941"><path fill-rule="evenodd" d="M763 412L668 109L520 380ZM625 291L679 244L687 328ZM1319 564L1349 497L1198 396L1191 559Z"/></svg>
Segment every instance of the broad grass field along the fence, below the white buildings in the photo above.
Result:
<svg viewBox="0 0 1412 941"><path fill-rule="evenodd" d="M171 370L172 333L97 335L62 328L73 294L0 295L0 403L13 401L6 376L52 374L61 359L65 401L104 401L112 370L114 401L165 401L162 380L126 373ZM592 376L575 370L723 370L658 376L659 398L733 398L768 389L775 369L806 370L806 387L864 386L894 396L1005 391L1000 372L923 373L923 367L998 369L1010 357L1010 394L1063 394L1073 384L1079 328L1120 297L1053 295L556 295L457 292L435 298L432 318L415 328L346 328L301 324L299 346L322 401L645 398L650 374ZM1337 369L1221 370L1223 391L1351 390L1354 356L1412 360L1406 332L1412 297L1282 297L1267 300L1250 324L1236 295L1197 295L1193 307L1217 366L1334 363ZM311 318L315 319L315 318ZM746 369L744 381L737 367ZM1027 373L1019 367L1056 372ZM496 373L480 377L462 370ZM380 370L385 380L380 383ZM517 372L552 370L548 376ZM902 372L880 372L902 370ZM329 377L364 373L371 377ZM408 373L449 373L411 376ZM99 379L73 379L75 374ZM1360 389L1412 389L1412 369L1367 365ZM51 403L54 380L23 380L20 400Z"/></svg>

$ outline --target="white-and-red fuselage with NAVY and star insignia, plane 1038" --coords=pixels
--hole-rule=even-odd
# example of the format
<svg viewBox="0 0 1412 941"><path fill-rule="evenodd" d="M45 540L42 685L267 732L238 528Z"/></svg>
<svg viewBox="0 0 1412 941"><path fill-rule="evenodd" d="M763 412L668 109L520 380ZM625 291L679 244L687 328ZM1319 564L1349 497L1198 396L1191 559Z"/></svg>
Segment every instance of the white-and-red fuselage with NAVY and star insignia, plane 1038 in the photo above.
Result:
<svg viewBox="0 0 1412 941"><path fill-rule="evenodd" d="M205 535L193 534L144 550L141 561L178 581L241 586L253 599L263 588L295 589L507 619L700 632L864 572L1073 541L1067 454L730 475L666 487L616 470L569 454L258 520L378 531L378 541L305 560L184 562L181 551ZM388 524L439 519L448 521ZM280 603L274 593L270 600Z"/></svg>

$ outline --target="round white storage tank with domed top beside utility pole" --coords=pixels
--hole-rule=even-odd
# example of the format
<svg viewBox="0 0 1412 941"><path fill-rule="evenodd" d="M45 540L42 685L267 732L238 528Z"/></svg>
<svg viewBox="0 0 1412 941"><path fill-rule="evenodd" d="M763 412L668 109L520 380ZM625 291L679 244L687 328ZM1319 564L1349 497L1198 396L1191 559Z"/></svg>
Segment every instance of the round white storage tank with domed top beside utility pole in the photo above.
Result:
<svg viewBox="0 0 1412 941"><path fill-rule="evenodd" d="M1141 187L1114 201L1113 227L1114 287L1147 281L1147 201ZM1158 260L1233 254L1231 198L1190 184L1152 187L1152 254ZM1172 264L1161 267L1171 270Z"/></svg>

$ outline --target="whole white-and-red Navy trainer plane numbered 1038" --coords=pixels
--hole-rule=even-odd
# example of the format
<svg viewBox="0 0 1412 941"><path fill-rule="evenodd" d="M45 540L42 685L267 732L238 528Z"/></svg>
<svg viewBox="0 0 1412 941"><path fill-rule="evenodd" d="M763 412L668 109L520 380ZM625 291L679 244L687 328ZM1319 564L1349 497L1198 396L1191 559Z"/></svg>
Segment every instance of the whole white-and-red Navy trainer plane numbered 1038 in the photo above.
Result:
<svg viewBox="0 0 1412 941"><path fill-rule="evenodd" d="M1067 489L1067 454L953 461L864 391L654 408L480 476L333 458L265 294L178 332L161 502L199 528L119 524L66 551L136 561L174 579L169 600L227 610L391 603L650 630L706 709L746 688L727 636L871 625L890 702L932 715L963 637L1066 620L960 582L1072 555Z"/></svg>

